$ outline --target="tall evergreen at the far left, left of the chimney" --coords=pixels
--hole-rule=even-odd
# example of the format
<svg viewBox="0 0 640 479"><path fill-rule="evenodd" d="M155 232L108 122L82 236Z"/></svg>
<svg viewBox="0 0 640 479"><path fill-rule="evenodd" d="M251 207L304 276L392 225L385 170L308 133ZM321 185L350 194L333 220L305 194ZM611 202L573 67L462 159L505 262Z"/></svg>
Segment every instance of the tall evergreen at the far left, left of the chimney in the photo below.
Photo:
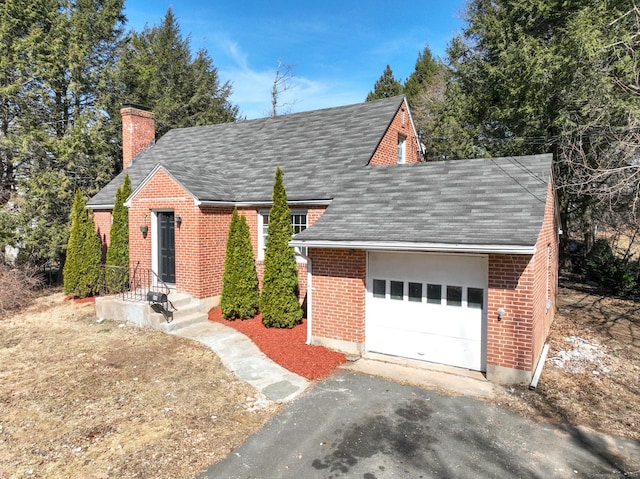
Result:
<svg viewBox="0 0 640 479"><path fill-rule="evenodd" d="M0 83L13 82L0 87L8 119L0 157L12 165L5 178L10 183L13 175L18 190L16 241L31 262L64 253L73 191L92 194L111 179L116 152L104 134L108 118L101 99L120 40L122 3L3 4L0 28L9 33L3 31L0 44L8 62L0 65Z"/></svg>

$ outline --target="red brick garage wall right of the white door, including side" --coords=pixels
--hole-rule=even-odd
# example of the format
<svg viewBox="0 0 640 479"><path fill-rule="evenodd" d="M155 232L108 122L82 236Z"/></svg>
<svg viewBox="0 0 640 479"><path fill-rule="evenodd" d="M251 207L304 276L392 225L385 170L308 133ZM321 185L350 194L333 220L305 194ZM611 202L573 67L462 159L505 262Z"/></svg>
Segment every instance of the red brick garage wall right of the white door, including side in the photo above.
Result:
<svg viewBox="0 0 640 479"><path fill-rule="evenodd" d="M556 227L555 199L549 185L535 254L489 255L488 365L524 371L532 371L536 366L553 321L554 308L547 310L546 299L548 287L549 298L555 303L558 281ZM498 321L498 308L505 310L502 321Z"/></svg>

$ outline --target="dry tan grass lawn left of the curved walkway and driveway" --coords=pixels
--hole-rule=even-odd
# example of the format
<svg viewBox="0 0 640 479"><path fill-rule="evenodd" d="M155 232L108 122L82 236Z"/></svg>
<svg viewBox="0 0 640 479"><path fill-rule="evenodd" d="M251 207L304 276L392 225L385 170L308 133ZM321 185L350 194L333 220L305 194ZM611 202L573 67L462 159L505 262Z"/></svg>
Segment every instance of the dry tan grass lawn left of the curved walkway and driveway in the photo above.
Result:
<svg viewBox="0 0 640 479"><path fill-rule="evenodd" d="M206 347L41 297L0 316L0 478L192 478L276 412Z"/></svg>

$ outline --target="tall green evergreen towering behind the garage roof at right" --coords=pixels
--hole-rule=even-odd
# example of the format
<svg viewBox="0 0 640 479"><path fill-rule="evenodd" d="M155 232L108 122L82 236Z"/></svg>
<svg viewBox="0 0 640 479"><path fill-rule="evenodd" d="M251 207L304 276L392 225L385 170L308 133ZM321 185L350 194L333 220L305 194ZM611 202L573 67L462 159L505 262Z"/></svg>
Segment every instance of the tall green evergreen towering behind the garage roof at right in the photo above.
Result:
<svg viewBox="0 0 640 479"><path fill-rule="evenodd" d="M435 136L466 138L463 154L553 152L563 230L587 249L596 220L636 222L639 17L630 0L472 0L448 52Z"/></svg>

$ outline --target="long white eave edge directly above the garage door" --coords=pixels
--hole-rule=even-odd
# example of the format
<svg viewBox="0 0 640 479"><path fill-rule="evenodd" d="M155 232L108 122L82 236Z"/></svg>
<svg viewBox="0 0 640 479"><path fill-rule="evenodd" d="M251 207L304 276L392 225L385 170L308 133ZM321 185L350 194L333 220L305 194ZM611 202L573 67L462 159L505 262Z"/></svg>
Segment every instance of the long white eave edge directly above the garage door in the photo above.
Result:
<svg viewBox="0 0 640 479"><path fill-rule="evenodd" d="M424 251L446 253L493 253L525 254L536 252L535 245L492 245L492 244L450 244L450 243L408 243L401 241L332 241L296 240L289 242L293 247L363 249L371 251Z"/></svg>

